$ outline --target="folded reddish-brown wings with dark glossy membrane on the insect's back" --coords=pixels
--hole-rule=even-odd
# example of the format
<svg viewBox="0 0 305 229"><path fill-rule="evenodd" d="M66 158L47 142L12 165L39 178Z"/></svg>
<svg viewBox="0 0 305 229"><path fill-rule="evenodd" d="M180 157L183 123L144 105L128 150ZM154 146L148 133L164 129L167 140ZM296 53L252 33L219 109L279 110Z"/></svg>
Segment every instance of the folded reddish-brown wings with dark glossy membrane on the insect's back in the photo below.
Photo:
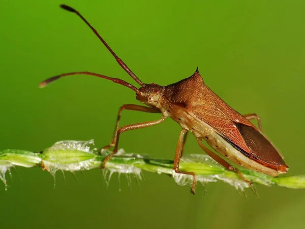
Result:
<svg viewBox="0 0 305 229"><path fill-rule="evenodd" d="M277 170L286 169L277 149L249 120L226 104L206 85L204 97L200 105L190 108L190 112L248 157L276 167Z"/></svg>

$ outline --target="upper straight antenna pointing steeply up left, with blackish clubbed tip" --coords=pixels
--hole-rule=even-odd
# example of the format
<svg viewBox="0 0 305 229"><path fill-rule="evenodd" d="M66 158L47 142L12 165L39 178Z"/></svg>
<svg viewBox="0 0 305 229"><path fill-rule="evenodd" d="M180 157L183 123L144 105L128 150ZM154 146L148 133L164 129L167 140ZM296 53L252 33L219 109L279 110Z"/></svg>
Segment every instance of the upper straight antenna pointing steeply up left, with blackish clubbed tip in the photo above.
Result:
<svg viewBox="0 0 305 229"><path fill-rule="evenodd" d="M60 7L64 10L70 11L72 13L76 13L90 28L91 30L97 35L97 37L103 42L103 44L106 46L106 48L111 52L111 54L114 56L117 63L141 86L143 85L143 82L129 69L129 67L118 58L118 56L114 53L114 51L109 47L109 45L106 43L106 41L99 35L99 33L95 30L95 28L89 24L89 22L75 9L66 6L66 5L60 5Z"/></svg>

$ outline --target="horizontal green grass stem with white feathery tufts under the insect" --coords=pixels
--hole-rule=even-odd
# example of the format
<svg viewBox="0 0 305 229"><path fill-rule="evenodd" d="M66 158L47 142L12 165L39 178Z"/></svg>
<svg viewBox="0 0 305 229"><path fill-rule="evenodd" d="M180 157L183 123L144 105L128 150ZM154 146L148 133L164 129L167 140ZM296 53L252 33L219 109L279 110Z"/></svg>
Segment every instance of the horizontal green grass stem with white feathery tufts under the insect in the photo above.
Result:
<svg viewBox="0 0 305 229"><path fill-rule="evenodd" d="M78 171L100 168L101 162L111 153L110 151L99 154L93 147L93 140L90 141L59 141L43 152L34 153L24 150L3 150L0 151L0 179L6 186L5 175L13 166L34 167L40 166L48 170L53 176L57 170ZM205 184L222 180L243 190L249 187L249 183L241 180L235 172L229 171L220 164L212 160L207 155L188 155L181 158L180 170L193 171L197 181ZM141 179L141 172L166 174L174 178L179 185L190 185L192 177L188 175L176 174L173 171L173 161L164 159L153 159L148 156L137 154L125 154L120 150L118 154L111 157L106 163L107 171L112 173L132 174ZM255 184L278 185L287 188L304 189L305 176L279 176L276 178L267 176L256 171L242 168L243 176Z"/></svg>

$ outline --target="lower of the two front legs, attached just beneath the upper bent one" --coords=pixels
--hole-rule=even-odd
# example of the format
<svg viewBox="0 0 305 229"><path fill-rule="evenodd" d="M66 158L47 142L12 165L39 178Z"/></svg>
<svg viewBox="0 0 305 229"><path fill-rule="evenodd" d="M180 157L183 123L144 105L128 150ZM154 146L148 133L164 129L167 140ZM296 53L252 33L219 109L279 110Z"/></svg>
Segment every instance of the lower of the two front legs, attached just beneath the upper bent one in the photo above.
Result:
<svg viewBox="0 0 305 229"><path fill-rule="evenodd" d="M115 146L114 146L114 150L113 153L108 155L103 163L102 163L102 168L105 168L105 164L107 161L109 161L109 159L117 153L117 148L118 148L118 140L119 140L119 135L120 133L129 131L129 130L136 130L136 129L141 129L141 128L145 128L145 127L149 127L149 126L155 126L159 123L162 123L164 120L166 119L165 116L163 116L161 119L156 120L156 121L150 121L150 122L145 122L145 123L136 123L136 124L132 124L132 125L127 125L124 127L121 127L118 129L117 133L116 133L116 142L115 142Z"/></svg>

